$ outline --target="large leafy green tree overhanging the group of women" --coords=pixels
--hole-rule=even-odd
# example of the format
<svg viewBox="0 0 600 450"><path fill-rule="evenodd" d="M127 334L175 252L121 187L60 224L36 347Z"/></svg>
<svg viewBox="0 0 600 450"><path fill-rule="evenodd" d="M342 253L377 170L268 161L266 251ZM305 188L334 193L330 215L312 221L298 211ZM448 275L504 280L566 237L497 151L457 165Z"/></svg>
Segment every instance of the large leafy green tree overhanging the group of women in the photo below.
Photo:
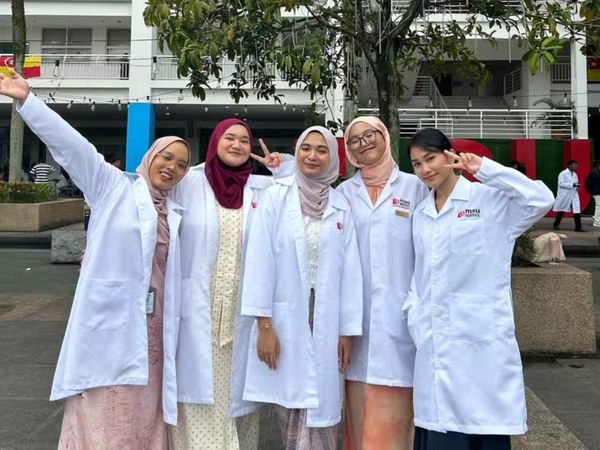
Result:
<svg viewBox="0 0 600 450"><path fill-rule="evenodd" d="M448 15L428 22L431 11L462 5L464 21ZM178 73L190 77L194 95L204 99L211 76L221 78L223 61L237 61L229 81L239 102L252 90L258 98L281 102L273 68L313 98L342 83L356 98L356 61L364 59L375 77L379 116L390 129L398 159L399 106L404 73L432 63L441 70L456 61L461 76L489 79L485 64L469 48L477 37L495 44L506 31L519 45L533 72L552 64L572 39L585 39L600 17L600 0L148 0L147 25L157 27L159 45L179 58ZM580 7L581 19L573 15ZM289 13L295 14L289 14ZM598 33L596 33L598 34ZM597 36L593 39L597 39ZM586 44L582 41L582 44ZM336 124L328 124L335 126ZM338 124L339 125L339 124Z"/></svg>

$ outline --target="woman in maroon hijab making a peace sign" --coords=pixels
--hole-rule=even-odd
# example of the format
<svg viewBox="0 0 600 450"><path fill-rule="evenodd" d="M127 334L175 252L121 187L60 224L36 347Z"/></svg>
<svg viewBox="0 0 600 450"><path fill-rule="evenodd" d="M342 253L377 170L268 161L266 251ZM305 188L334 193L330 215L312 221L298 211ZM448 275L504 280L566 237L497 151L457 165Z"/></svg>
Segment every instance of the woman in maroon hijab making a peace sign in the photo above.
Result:
<svg viewBox="0 0 600 450"><path fill-rule="evenodd" d="M265 158L251 154L245 122L219 122L206 162L192 167L174 191L186 214L180 230L179 422L169 431L171 449L258 446L258 415L250 414L257 405L242 401L247 346L238 349L252 319L239 317L238 294L246 235L262 192L273 183L272 177L251 175L250 157L272 168L280 162L260 142Z"/></svg>

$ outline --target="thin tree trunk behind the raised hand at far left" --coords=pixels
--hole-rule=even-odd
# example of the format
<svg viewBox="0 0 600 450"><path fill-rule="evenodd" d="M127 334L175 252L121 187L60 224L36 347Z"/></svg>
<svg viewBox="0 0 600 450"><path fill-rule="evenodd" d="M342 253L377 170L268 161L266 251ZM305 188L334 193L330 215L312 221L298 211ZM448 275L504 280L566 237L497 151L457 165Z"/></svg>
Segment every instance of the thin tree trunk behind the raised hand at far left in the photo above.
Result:
<svg viewBox="0 0 600 450"><path fill-rule="evenodd" d="M25 51L27 46L25 28L25 1L12 0L12 27L13 27L13 53L14 69L17 73L23 73L25 62ZM8 169L8 180L20 179L23 167L23 119L17 112L17 101L13 101L12 114L10 118L10 166Z"/></svg>

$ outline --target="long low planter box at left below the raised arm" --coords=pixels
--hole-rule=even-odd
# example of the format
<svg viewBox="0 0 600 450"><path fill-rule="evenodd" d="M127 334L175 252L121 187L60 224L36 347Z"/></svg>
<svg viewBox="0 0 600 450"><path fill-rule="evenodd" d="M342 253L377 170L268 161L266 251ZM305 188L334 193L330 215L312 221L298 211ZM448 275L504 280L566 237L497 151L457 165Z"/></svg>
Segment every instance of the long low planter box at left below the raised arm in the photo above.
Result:
<svg viewBox="0 0 600 450"><path fill-rule="evenodd" d="M0 231L43 231L83 220L83 199L0 203Z"/></svg>

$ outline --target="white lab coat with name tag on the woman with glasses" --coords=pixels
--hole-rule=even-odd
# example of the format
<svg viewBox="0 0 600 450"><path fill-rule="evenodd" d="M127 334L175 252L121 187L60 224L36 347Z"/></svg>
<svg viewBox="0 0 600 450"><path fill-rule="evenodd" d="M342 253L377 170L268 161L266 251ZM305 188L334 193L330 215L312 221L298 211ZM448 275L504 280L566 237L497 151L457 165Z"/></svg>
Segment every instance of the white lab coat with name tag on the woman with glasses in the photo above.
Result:
<svg viewBox="0 0 600 450"><path fill-rule="evenodd" d="M413 211L427 187L395 168L375 205L360 171L338 189L352 209L363 273L363 336L346 379L410 387L415 347L402 307L414 268Z"/></svg>

